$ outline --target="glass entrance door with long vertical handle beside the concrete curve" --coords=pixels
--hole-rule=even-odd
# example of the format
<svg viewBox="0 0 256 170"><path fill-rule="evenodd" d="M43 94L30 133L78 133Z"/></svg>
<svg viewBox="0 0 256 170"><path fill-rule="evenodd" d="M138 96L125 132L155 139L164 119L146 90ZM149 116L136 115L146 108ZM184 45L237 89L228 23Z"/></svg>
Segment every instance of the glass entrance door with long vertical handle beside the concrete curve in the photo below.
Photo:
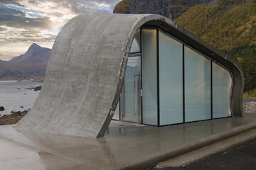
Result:
<svg viewBox="0 0 256 170"><path fill-rule="evenodd" d="M122 119L142 123L140 56L129 57L124 77Z"/></svg>

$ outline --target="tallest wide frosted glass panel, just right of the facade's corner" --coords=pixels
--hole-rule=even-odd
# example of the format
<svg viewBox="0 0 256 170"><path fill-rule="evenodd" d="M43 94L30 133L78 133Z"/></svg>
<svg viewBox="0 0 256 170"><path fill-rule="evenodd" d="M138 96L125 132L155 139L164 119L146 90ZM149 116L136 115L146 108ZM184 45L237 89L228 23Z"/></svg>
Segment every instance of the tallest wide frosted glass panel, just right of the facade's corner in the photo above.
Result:
<svg viewBox="0 0 256 170"><path fill-rule="evenodd" d="M183 122L182 44L159 31L160 125Z"/></svg>

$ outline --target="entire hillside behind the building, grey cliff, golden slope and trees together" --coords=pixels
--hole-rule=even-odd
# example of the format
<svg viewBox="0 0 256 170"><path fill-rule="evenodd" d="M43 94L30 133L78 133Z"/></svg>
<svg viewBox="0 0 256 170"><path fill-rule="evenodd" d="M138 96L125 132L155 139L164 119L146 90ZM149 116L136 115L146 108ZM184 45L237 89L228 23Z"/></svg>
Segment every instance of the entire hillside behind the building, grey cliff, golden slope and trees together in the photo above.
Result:
<svg viewBox="0 0 256 170"><path fill-rule="evenodd" d="M114 13L171 18L237 60L245 74L245 91L256 91L256 0L124 0Z"/></svg>

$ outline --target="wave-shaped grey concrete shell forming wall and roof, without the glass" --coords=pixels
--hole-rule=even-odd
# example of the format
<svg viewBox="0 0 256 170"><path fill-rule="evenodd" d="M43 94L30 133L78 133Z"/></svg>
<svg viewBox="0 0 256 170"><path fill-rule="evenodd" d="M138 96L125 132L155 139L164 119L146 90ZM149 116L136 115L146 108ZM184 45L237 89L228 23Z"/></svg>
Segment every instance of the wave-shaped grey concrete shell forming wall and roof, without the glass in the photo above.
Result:
<svg viewBox="0 0 256 170"><path fill-rule="evenodd" d="M104 135L122 90L127 56L137 29L163 28L228 67L234 77L234 115L242 116L242 70L206 42L159 15L87 13L65 24L50 53L43 88L16 125L82 137Z"/></svg>

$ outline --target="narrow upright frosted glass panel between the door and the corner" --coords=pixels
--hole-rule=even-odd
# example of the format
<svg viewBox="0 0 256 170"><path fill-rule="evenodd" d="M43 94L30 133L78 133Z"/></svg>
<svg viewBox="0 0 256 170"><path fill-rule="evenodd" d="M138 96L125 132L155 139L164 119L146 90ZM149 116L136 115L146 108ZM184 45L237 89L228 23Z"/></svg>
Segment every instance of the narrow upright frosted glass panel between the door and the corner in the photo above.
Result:
<svg viewBox="0 0 256 170"><path fill-rule="evenodd" d="M157 125L156 30L142 29L143 123Z"/></svg>

